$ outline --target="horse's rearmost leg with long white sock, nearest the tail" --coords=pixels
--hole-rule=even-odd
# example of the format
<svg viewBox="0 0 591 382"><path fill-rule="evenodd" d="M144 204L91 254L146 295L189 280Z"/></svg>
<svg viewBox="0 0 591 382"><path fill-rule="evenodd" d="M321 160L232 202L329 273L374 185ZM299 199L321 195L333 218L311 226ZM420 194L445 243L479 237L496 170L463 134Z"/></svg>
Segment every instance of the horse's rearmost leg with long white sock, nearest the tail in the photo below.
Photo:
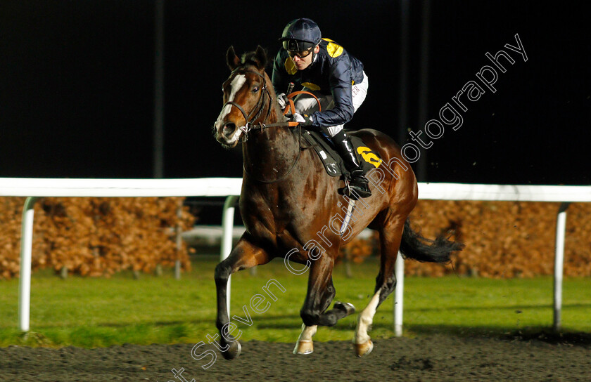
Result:
<svg viewBox="0 0 591 382"><path fill-rule="evenodd" d="M398 249L400 248L400 239L402 238L402 230L404 229L404 219L391 218L386 220L380 230L380 272L376 277L376 289L374 296L367 307L360 313L357 320L357 328L355 329L355 337L353 344L357 357L363 357L371 352L374 344L371 343L371 338L367 334L367 329L374 321L374 315L378 306L386 300L386 297L396 287L396 277L394 274L394 266L396 263L396 256L398 256Z"/></svg>

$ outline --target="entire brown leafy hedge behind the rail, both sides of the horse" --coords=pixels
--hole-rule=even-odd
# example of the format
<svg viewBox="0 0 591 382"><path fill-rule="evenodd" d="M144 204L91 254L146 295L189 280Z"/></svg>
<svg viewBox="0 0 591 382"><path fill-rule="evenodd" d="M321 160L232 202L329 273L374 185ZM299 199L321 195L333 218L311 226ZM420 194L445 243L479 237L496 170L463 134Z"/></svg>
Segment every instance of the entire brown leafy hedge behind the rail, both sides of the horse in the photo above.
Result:
<svg viewBox="0 0 591 382"><path fill-rule="evenodd" d="M33 269L68 268L85 276L120 270L151 272L178 258L191 266L186 246L177 251L171 228L189 229L182 198L45 198L35 207ZM18 275L20 219L24 198L0 197L0 278ZM558 203L421 200L412 226L433 239L455 229L466 244L451 265L407 261L407 275L533 277L552 275ZM564 274L591 276L591 206L571 204L566 218ZM377 253L376 235L355 240L354 262Z"/></svg>

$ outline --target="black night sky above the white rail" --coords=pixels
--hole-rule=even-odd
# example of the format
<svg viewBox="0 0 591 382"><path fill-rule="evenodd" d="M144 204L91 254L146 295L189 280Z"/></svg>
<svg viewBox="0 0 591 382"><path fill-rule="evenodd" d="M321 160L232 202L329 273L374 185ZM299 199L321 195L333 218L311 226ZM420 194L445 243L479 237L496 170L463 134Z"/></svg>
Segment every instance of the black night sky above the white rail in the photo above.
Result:
<svg viewBox="0 0 591 382"><path fill-rule="evenodd" d="M269 6L269 4L272 4ZM545 5L540 5L545 4ZM547 5L546 5L547 4ZM431 1L428 111L419 120L424 1L409 7L408 125L427 119L501 49L515 63L467 101L426 157L431 182L591 184L591 50L583 2ZM153 176L152 1L1 1L0 177ZM225 52L277 53L284 25L315 20L364 62L365 103L348 127L399 143L400 1L165 3L165 178L241 176L241 151L211 126L229 70ZM528 61L504 48L519 34ZM269 71L270 74L270 71Z"/></svg>

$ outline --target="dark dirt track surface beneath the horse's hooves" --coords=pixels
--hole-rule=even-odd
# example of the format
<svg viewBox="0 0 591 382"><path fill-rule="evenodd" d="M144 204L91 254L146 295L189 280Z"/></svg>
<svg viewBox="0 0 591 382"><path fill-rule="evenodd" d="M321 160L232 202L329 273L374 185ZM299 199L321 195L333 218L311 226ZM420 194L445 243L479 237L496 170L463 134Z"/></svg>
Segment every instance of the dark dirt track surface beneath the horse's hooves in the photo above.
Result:
<svg viewBox="0 0 591 382"><path fill-rule="evenodd" d="M208 345L209 346L209 345ZM0 348L0 381L591 381L590 343L424 336L375 341L366 358L348 342L314 343L293 355L291 343L242 343L233 361L204 370L192 345ZM198 353L205 351L205 346Z"/></svg>

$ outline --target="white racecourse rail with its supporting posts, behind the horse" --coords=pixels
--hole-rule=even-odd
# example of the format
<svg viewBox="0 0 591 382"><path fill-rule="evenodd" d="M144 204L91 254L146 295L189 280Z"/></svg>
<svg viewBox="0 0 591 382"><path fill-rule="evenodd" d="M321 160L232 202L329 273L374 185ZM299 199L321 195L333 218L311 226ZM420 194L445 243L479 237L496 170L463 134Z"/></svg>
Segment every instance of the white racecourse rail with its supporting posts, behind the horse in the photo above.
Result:
<svg viewBox="0 0 591 382"><path fill-rule="evenodd" d="M23 331L29 330L33 206L39 197L227 197L222 216L224 233L220 258L223 259L231 251L234 205L240 195L241 185L241 178L0 178L0 196L27 197L23 209L20 245L18 308L20 329ZM570 202L591 202L591 186L419 183L419 199L561 202L562 204L557 211L554 258L554 329L560 328L566 209ZM402 335L402 294L404 289L404 261L402 261L402 256L398 256L396 262L396 278L398 284L394 301L394 327L396 334L400 336ZM229 291L228 288L228 293Z"/></svg>

